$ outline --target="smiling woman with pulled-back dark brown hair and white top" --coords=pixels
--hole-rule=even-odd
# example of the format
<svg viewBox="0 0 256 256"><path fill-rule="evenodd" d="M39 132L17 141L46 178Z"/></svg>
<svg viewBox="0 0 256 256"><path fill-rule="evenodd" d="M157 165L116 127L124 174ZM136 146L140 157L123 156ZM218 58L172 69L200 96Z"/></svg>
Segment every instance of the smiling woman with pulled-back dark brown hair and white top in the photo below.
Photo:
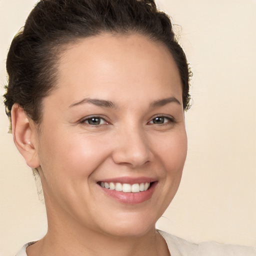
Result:
<svg viewBox="0 0 256 256"><path fill-rule="evenodd" d="M6 65L13 139L48 219L17 255L256 254L155 230L186 157L190 73L153 1L40 1Z"/></svg>

